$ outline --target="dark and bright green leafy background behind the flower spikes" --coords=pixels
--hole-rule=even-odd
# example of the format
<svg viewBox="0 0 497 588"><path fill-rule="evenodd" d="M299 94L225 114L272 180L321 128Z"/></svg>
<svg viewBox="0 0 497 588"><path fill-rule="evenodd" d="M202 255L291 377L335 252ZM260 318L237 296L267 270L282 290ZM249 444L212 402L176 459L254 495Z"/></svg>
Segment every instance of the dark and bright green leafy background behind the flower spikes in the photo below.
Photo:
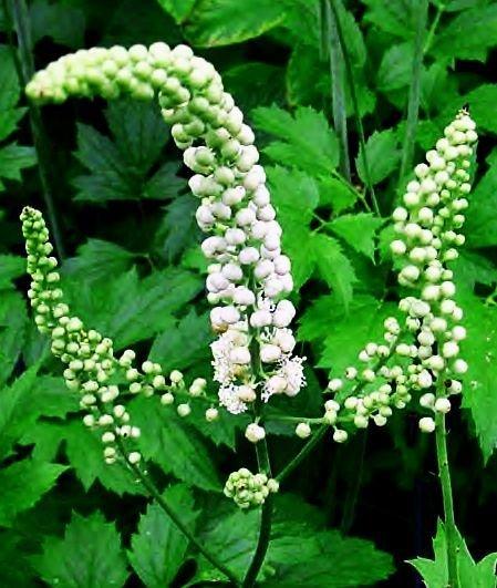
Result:
<svg viewBox="0 0 497 588"><path fill-rule="evenodd" d="M219 579L216 571L147 506L139 485L104 465L99 440L81 424L77 400L29 319L18 223L22 206L44 208L42 193L50 193L75 312L116 350L133 344L165 370L209 379L206 266L186 171L155 104L46 106L34 148L39 113L28 112L22 94L8 4L0 8L0 586L205 585ZM221 72L257 131L294 268L309 385L275 411L319 416L328 376L395 312L387 219L408 178L405 165L469 104L480 142L467 247L454 268L469 371L462 410L449 415L449 443L458 526L479 560L496 549L482 526L497 514L497 3L344 2L359 112L350 84L344 107L332 109L346 76L343 60L338 70L330 63L324 17L318 0L34 0L28 24L37 68L83 47L163 40L191 44ZM417 118L408 115L413 101ZM348 127L350 177L338 123ZM220 491L230 471L253 465L239 434L245 417L207 424L194 411L185 421L142 399L132 414L170 502L241 572L257 513L236 512ZM272 433L281 467L301 442L291 427ZM263 586L415 586L404 561L432 557L441 509L433 468L414 406L346 446L327 439L277 499ZM435 555L443 541L439 527ZM494 586L494 560L476 566L467 557L480 586ZM442 586L433 566L416 563L429 586Z"/></svg>

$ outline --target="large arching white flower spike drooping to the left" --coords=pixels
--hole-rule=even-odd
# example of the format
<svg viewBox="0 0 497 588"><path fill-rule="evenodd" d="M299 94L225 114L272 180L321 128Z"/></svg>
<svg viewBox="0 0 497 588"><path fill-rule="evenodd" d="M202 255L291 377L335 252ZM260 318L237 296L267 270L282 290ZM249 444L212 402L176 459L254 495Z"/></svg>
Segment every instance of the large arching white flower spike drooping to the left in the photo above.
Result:
<svg viewBox="0 0 497 588"><path fill-rule="evenodd" d="M281 251L281 227L253 133L214 66L186 45L94 48L37 73L27 93L55 102L69 95L158 95L185 164L195 172L189 186L199 198L197 223L210 233L201 249L213 261L206 286L216 305L211 324L220 333L213 344L219 402L238 413L255 401L258 388L265 401L277 393L296 395L306 380L302 359L291 354L296 311L284 299L293 289L291 264ZM265 365L262 382L252 373L256 359Z"/></svg>

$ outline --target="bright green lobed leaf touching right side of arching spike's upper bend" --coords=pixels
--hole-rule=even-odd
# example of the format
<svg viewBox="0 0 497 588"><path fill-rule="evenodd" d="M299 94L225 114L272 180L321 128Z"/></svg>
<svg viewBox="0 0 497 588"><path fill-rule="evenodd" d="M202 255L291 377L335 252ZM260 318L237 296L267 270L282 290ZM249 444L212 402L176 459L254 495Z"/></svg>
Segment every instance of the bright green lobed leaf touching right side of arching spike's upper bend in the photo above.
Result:
<svg viewBox="0 0 497 588"><path fill-rule="evenodd" d="M329 175L336 167L340 158L338 138L322 113L300 106L292 116L271 106L255 109L251 114L258 128L280 140L263 148L276 163L310 175Z"/></svg>

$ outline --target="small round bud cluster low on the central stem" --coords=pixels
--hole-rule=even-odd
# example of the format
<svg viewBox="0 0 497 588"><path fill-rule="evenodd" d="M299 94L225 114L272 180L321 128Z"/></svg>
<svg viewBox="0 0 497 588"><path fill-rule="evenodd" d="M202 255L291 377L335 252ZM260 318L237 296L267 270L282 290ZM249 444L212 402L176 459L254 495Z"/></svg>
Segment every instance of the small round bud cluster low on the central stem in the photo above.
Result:
<svg viewBox="0 0 497 588"><path fill-rule="evenodd" d="M270 493L278 492L279 484L266 474L252 474L246 467L232 472L225 485L225 495L232 498L240 508L260 506Z"/></svg>

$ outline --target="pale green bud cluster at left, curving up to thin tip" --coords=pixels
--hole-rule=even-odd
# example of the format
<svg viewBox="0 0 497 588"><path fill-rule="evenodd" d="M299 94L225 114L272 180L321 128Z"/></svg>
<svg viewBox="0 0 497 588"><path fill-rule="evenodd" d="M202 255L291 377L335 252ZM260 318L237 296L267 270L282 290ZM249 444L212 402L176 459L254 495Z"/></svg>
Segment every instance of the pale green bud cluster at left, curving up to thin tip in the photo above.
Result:
<svg viewBox="0 0 497 588"><path fill-rule="evenodd" d="M127 349L116 358L111 339L94 329L86 330L80 318L71 316L59 287L58 260L51 256L53 247L41 213L27 207L21 220L28 272L32 278L28 297L38 329L51 336L52 353L65 364L63 375L68 388L80 392L80 406L85 412L83 422L100 432L105 462L112 464L118 458L121 445L127 452L127 461L137 464L141 454L132 440L139 437L141 431L130 423L130 413L120 399L125 394L159 393L163 404L172 404L174 393L185 390L183 374L174 370L167 383L161 365L152 361L143 362L139 371L134 367L133 350ZM204 379L195 380L188 394L200 395L205 385ZM189 405L179 404L177 411L186 416Z"/></svg>

